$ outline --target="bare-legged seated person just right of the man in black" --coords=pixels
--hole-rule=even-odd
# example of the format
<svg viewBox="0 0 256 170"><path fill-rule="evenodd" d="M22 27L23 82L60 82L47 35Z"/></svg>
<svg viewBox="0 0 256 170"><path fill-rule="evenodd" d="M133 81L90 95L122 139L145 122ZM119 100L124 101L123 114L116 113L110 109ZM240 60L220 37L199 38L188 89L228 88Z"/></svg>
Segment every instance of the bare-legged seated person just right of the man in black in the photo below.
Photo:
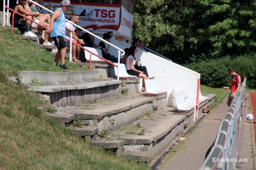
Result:
<svg viewBox="0 0 256 170"><path fill-rule="evenodd" d="M31 3L30 1L26 2L26 6L25 6L26 10L31 11L31 12L38 12L38 10L35 7L36 7L35 3ZM34 17L33 20L36 23L40 23L42 26L47 27L48 29L50 28L51 16L49 14L40 13L40 15L38 15L37 17ZM32 23L32 26L38 27L38 25L36 23ZM44 45L52 46L53 44L49 42L49 40L48 40L49 35L47 33L45 33L45 29L41 26L39 26L39 28L43 29L42 37L39 39L40 43L42 43Z"/></svg>

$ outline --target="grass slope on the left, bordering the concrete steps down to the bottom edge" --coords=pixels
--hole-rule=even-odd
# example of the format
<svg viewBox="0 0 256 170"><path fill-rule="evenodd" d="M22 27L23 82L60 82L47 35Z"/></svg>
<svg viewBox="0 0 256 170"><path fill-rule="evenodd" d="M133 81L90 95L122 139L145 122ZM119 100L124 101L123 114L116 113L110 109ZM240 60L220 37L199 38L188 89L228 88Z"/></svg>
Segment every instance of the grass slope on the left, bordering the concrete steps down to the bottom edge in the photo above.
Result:
<svg viewBox="0 0 256 170"><path fill-rule="evenodd" d="M21 70L58 71L54 56L0 30L0 169L147 170L147 164L95 149L43 115L39 93L13 84ZM83 70L67 62L71 70Z"/></svg>

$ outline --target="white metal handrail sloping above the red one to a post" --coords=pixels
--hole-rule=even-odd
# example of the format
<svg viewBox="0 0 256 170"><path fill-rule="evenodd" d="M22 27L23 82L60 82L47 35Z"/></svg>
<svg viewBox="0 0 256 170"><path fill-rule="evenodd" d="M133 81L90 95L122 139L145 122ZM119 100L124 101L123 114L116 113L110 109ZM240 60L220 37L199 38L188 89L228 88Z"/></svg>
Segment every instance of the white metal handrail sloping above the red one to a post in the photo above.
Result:
<svg viewBox="0 0 256 170"><path fill-rule="evenodd" d="M35 2L32 1L32 0L29 0L29 1L30 1L31 3L35 3ZM52 12L51 10L45 8L44 6L41 6L41 5L38 4L38 3L35 3L35 4L36 4L37 6L40 6L40 7L43 8L43 9L47 10L48 12L54 13L54 12ZM87 31L86 29L82 28L81 26L79 26L79 25L77 25L77 24L75 24L75 23L72 23L70 20L67 20L67 19L66 19L66 21L69 22L69 23L71 23L72 25L76 26L77 28L79 28L79 29L81 29L81 30L87 32L88 34L93 35L94 37L98 38L99 40L102 40L104 43L107 43L108 45L110 45L110 46L112 46L112 47L114 47L115 49L118 50L117 66L116 66L115 64L111 63L111 62L108 62L108 63L111 63L113 66L116 66L116 67L117 67L117 80L119 80L119 63L120 63L120 56L121 56L121 55L125 55L125 51L124 51L123 49L120 49L119 47L117 47L117 46L115 46L115 45L109 43L108 41L102 39L101 37L99 37L99 36L93 34L92 32ZM71 42L72 42L72 40L71 40ZM72 49L71 49L71 51L72 51ZM90 52L90 51L88 51L88 50L86 50L86 51L87 51L87 52ZM122 52L122 53L121 53L121 52ZM93 55L95 55L93 52L90 52L90 53L93 54ZM95 55L95 56L99 57L99 55ZM102 58L101 58L101 59L102 59ZM105 61L105 60L104 60L104 61ZM91 61L90 61L90 62L91 62Z"/></svg>

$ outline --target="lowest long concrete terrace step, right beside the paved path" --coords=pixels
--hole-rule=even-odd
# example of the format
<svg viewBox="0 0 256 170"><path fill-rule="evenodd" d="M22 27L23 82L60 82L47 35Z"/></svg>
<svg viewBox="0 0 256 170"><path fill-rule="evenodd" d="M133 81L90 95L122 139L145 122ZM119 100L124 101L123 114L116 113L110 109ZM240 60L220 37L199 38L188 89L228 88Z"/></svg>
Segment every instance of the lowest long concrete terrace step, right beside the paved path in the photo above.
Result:
<svg viewBox="0 0 256 170"><path fill-rule="evenodd" d="M129 126L112 133L110 139L122 137L125 152L149 152L150 157L164 150L184 130L185 115L174 115L168 108L143 115Z"/></svg>

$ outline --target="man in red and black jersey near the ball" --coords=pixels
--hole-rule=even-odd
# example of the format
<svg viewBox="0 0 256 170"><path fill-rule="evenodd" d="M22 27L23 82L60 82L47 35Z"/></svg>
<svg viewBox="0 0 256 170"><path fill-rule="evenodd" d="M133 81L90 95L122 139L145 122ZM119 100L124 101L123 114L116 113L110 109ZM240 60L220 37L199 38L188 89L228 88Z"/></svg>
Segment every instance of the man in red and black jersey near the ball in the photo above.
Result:
<svg viewBox="0 0 256 170"><path fill-rule="evenodd" d="M232 77L231 87L224 86L223 89L231 89L230 95L228 96L227 99L227 106L230 107L234 95L238 92L241 86L242 78L240 75L236 74L235 69L233 68L229 68L227 70L227 74L229 74Z"/></svg>

